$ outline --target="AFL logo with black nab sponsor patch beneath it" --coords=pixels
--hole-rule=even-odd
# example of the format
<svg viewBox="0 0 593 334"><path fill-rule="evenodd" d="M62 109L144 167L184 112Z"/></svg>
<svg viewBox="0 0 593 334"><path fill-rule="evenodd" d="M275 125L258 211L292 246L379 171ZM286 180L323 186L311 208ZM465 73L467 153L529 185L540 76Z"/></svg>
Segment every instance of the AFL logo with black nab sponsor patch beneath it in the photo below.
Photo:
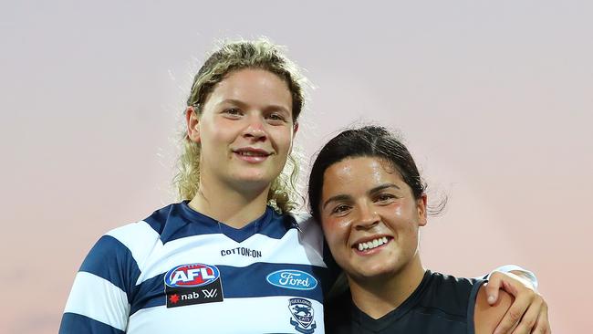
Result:
<svg viewBox="0 0 593 334"><path fill-rule="evenodd" d="M200 263L175 266L165 274L167 308L223 301L220 271Z"/></svg>

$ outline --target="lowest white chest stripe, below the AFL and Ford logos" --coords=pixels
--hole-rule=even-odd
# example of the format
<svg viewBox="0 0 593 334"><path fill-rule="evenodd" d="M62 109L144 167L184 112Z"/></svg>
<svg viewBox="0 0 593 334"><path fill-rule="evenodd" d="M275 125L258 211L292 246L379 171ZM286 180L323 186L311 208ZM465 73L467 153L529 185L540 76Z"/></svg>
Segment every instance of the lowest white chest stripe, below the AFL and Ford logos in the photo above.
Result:
<svg viewBox="0 0 593 334"><path fill-rule="evenodd" d="M298 333L290 325L291 297L228 298L222 302L177 308L143 308L130 317L128 334L136 333ZM323 306L311 301L317 325L323 334ZM270 313L270 310L273 313Z"/></svg>

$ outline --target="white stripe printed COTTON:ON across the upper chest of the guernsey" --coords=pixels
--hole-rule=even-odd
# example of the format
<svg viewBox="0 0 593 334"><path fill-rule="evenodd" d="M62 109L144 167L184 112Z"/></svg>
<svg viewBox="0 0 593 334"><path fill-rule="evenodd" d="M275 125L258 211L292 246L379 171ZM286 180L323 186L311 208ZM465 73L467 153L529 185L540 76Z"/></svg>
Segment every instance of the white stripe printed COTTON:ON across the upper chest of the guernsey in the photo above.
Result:
<svg viewBox="0 0 593 334"><path fill-rule="evenodd" d="M290 229L281 239L256 234L241 243L221 234L192 235L162 245L160 235L150 224L143 221L118 227L109 231L107 235L118 239L130 249L140 269L136 285L167 272L173 266L191 263L244 267L265 262L326 267L323 262L323 236L319 225L308 215L298 215L295 218L302 232ZM237 247L261 252L262 257L221 254L221 251Z"/></svg>

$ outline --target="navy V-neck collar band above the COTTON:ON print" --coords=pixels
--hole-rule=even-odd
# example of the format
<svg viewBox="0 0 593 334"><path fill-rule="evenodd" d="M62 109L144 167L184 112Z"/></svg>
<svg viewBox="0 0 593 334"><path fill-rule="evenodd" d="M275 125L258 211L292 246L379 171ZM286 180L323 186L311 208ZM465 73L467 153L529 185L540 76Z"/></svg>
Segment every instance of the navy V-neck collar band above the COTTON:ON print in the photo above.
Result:
<svg viewBox="0 0 593 334"><path fill-rule="evenodd" d="M163 245L193 235L224 234L238 243L255 234L281 239L290 228L296 226L292 216L276 214L274 209L267 206L265 214L237 229L194 211L187 201L165 206L144 221L160 235Z"/></svg>

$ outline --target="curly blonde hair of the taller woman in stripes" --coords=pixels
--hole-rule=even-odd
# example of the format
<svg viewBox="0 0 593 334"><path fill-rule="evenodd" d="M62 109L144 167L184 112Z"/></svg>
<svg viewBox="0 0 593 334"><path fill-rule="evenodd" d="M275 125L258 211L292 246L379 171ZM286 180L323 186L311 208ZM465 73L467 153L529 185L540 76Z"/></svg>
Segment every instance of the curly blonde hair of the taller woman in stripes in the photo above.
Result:
<svg viewBox="0 0 593 334"><path fill-rule="evenodd" d="M243 68L261 68L276 74L286 81L292 96L292 115L296 122L305 103L304 88L307 78L299 68L276 46L265 38L254 41L224 43L206 59L202 68L193 78L192 91L187 106L192 106L198 115L203 112L203 104L216 84L233 71ZM186 132L182 134L182 153L178 160L178 172L173 184L182 200L191 200L199 192L200 184L200 144L190 141ZM296 190L298 162L290 153L283 171L276 177L267 194L268 204L277 212L286 213L298 206L300 197ZM302 197L301 197L302 198Z"/></svg>

